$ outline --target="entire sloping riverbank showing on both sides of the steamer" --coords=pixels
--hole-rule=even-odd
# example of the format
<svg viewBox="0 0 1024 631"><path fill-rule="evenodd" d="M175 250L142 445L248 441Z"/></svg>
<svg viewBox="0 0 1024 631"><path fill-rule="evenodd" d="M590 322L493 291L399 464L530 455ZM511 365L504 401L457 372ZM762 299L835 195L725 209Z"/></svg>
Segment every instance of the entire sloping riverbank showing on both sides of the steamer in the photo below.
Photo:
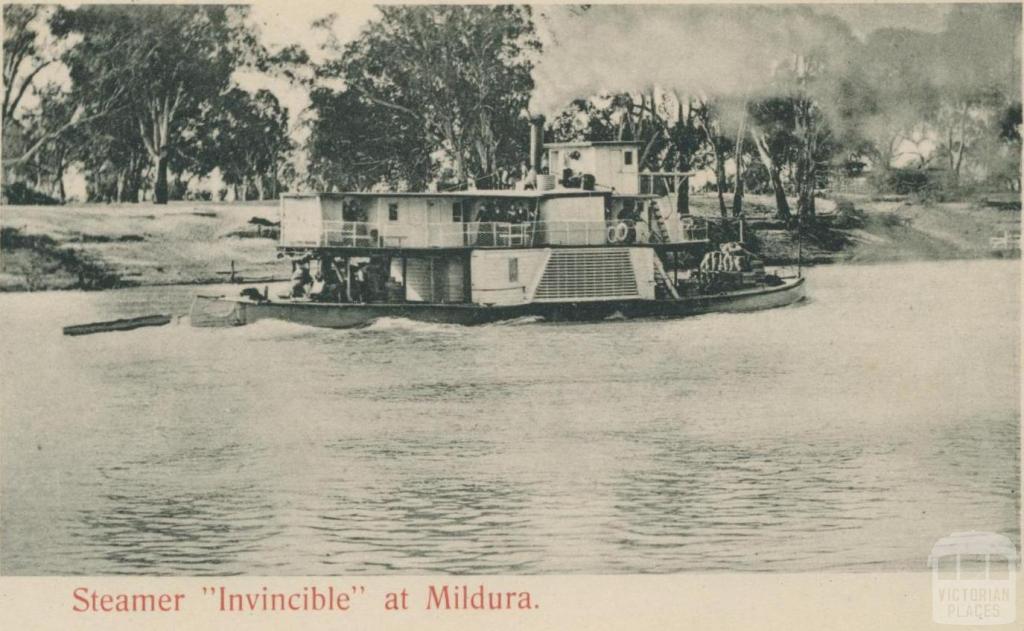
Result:
<svg viewBox="0 0 1024 631"><path fill-rule="evenodd" d="M693 195L693 214L716 217L717 199ZM989 239L1019 227L1020 210L982 203L821 200L819 225L802 240L772 220L763 196L744 200L744 238L768 264L972 259ZM275 202L175 202L0 208L0 291L200 285L287 278L276 258Z"/></svg>

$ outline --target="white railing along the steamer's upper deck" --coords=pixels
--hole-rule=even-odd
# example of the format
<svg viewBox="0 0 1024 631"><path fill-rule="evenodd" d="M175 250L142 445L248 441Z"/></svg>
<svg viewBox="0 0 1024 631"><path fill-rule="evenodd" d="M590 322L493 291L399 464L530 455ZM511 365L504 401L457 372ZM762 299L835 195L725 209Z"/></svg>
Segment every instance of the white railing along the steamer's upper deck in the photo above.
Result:
<svg viewBox="0 0 1024 631"><path fill-rule="evenodd" d="M671 235L674 232L676 235ZM287 233L282 245L318 245L347 248L528 248L548 245L631 245L687 243L708 239L706 223L682 223L670 230L668 242L662 232L643 221L453 221L446 223L370 223L366 221L324 221L319 243L290 243Z"/></svg>

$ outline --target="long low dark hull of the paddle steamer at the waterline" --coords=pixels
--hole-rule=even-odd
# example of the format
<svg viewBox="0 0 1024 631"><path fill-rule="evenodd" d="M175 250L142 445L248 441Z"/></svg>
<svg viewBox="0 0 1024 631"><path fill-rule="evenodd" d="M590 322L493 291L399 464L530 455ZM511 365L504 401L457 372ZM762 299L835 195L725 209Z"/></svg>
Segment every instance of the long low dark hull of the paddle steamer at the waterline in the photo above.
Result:
<svg viewBox="0 0 1024 631"><path fill-rule="evenodd" d="M759 287L714 296L679 300L608 300L596 302L546 302L514 306L435 303L317 303L255 302L221 296L197 296L193 302L194 327L226 327L260 320L283 320L311 327L346 329L369 325L381 318L419 322L481 325L523 317L546 321L600 321L608 318L681 318L710 312L740 312L785 306L804 298L804 279L790 279L777 287Z"/></svg>

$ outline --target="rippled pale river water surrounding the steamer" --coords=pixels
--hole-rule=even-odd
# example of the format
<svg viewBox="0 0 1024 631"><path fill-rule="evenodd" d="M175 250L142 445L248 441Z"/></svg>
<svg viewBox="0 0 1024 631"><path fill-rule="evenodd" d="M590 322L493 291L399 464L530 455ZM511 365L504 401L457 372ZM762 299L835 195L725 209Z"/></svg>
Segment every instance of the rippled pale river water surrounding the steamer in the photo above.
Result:
<svg viewBox="0 0 1024 631"><path fill-rule="evenodd" d="M0 572L921 570L954 531L1019 543L1018 263L808 276L748 314L80 338L209 290L0 295Z"/></svg>

